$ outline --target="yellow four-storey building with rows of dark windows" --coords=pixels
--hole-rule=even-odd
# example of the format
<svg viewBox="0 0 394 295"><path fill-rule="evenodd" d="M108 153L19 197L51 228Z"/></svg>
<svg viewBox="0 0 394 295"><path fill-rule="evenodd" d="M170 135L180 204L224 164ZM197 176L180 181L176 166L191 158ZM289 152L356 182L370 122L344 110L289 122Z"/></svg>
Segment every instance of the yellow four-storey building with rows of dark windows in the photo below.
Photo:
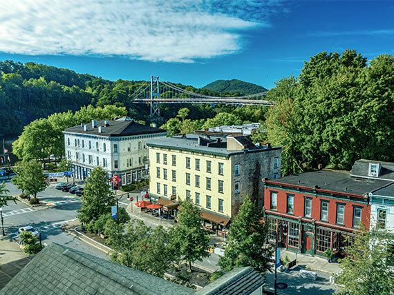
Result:
<svg viewBox="0 0 394 295"><path fill-rule="evenodd" d="M159 203L191 199L213 228L227 225L246 195L263 207L261 179L281 173L281 148L259 148L245 136L187 134L147 145L149 195Z"/></svg>

